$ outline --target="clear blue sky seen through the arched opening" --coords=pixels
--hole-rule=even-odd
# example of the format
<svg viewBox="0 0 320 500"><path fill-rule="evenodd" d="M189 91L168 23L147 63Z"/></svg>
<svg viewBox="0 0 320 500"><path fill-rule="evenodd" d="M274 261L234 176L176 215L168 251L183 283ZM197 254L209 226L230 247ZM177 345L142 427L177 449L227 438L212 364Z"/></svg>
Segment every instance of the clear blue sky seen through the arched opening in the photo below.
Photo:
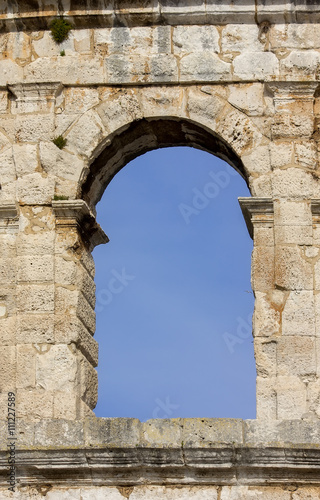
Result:
<svg viewBox="0 0 320 500"><path fill-rule="evenodd" d="M188 147L142 155L97 206L100 417L255 418L244 180Z"/></svg>

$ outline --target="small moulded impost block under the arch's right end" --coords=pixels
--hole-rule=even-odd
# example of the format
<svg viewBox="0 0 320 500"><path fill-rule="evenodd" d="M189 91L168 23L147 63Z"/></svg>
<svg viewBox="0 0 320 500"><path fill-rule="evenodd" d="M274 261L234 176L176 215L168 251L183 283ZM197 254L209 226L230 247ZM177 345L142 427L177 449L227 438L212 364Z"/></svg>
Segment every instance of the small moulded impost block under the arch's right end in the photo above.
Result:
<svg viewBox="0 0 320 500"><path fill-rule="evenodd" d="M274 209L271 198L238 198L251 238L256 224L273 224Z"/></svg>

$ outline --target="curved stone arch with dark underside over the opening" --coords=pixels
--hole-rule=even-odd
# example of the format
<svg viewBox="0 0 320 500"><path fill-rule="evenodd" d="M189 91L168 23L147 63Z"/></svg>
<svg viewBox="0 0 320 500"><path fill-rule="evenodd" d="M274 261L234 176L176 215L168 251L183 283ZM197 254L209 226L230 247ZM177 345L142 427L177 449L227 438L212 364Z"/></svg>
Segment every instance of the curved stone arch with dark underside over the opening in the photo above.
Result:
<svg viewBox="0 0 320 500"><path fill-rule="evenodd" d="M253 195L270 196L270 139L256 126L246 100L242 107L235 106L230 92L219 85L104 89L100 103L64 134L67 149L88 166L79 178L77 197L94 209L108 182L128 161L171 145L213 153L246 179Z"/></svg>

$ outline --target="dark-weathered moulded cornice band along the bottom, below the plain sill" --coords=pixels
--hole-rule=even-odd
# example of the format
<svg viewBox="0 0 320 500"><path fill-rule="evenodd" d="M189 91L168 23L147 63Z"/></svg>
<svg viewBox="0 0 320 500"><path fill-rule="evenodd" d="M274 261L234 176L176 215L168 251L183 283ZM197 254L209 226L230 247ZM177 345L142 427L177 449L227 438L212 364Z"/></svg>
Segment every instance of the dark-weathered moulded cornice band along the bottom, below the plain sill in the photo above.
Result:
<svg viewBox="0 0 320 500"><path fill-rule="evenodd" d="M17 451L18 487L38 484L82 487L139 484L320 484L320 449L82 448ZM7 481L7 454L0 452L0 486Z"/></svg>

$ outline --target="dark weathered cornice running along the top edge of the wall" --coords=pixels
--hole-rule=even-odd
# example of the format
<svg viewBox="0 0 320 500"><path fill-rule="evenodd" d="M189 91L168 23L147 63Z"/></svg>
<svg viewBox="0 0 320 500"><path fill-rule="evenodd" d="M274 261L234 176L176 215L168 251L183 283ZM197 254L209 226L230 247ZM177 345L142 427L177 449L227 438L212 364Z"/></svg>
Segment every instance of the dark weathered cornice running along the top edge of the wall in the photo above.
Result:
<svg viewBox="0 0 320 500"><path fill-rule="evenodd" d="M76 28L112 26L149 26L162 24L210 24L318 22L320 5L307 0L288 2L281 0L276 8L263 0L235 5L231 0L191 1L188 3L147 1L123 2L112 0L102 9L94 8L89 0L72 2L72 9L61 10L58 2L18 3L14 7L0 9L0 32L21 30L45 30L52 19L66 16ZM179 5L180 3L180 5ZM257 3L257 5L256 5ZM142 4L142 5L141 5Z"/></svg>

